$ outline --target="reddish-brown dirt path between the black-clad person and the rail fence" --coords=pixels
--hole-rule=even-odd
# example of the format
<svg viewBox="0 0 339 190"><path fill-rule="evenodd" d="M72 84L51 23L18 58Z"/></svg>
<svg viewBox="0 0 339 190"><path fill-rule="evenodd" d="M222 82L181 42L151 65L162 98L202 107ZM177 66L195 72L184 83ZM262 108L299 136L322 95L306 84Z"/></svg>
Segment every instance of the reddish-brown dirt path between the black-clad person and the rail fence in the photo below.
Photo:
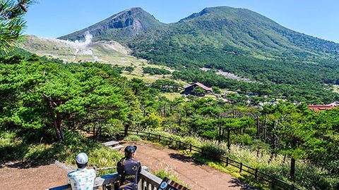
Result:
<svg viewBox="0 0 339 190"><path fill-rule="evenodd" d="M250 189L250 187L231 175L215 170L212 167L196 163L193 159L183 156L178 151L150 144L144 141L126 143L138 146L136 158L141 165L146 165L152 171L165 169L177 175L180 182L192 190L201 189Z"/></svg>

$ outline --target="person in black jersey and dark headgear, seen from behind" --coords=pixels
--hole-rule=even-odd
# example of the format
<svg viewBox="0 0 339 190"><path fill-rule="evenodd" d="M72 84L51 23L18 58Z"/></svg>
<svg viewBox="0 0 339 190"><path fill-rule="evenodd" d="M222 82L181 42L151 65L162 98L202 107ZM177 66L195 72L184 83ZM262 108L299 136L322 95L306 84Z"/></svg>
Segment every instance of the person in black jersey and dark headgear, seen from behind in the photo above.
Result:
<svg viewBox="0 0 339 190"><path fill-rule="evenodd" d="M117 163L118 174L121 175L119 190L138 190L141 163L133 159L135 156L136 146L126 146L125 157Z"/></svg>

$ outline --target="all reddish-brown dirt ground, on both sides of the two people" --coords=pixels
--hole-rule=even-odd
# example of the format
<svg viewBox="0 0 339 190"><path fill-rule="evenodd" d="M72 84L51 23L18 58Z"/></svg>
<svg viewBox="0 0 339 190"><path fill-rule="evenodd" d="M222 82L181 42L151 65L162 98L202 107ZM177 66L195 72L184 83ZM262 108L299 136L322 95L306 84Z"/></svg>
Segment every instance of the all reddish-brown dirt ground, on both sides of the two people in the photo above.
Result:
<svg viewBox="0 0 339 190"><path fill-rule="evenodd" d="M124 146L131 144L126 143ZM231 175L201 165L178 151L145 141L133 142L138 146L136 157L151 171L165 169L176 175L179 182L192 190L251 189ZM66 184L66 170L54 162L0 163L0 189L48 189Z"/></svg>

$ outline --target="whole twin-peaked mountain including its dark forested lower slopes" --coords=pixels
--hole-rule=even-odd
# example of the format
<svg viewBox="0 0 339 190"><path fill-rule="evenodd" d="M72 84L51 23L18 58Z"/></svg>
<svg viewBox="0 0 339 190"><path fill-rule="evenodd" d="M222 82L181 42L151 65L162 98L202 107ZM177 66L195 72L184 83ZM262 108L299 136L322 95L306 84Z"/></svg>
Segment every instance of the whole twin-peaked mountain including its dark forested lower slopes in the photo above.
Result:
<svg viewBox="0 0 339 190"><path fill-rule="evenodd" d="M175 68L179 71L173 77L187 82L274 96L338 97L324 89L339 84L339 44L289 30L244 8L205 8L170 24L131 8L61 39L83 39L88 33L94 41L115 40L129 46L134 56ZM234 87L234 82L199 68L231 72L264 86Z"/></svg>

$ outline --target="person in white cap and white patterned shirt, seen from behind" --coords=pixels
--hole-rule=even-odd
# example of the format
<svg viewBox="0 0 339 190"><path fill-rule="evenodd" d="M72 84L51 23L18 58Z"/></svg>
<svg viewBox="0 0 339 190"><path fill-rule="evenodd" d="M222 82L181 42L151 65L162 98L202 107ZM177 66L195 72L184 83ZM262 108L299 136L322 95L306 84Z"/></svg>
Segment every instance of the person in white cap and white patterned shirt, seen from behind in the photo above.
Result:
<svg viewBox="0 0 339 190"><path fill-rule="evenodd" d="M76 156L76 165L78 169L69 172L67 182L71 184L73 190L92 190L95 180L95 170L86 168L88 156L85 153L79 153Z"/></svg>

